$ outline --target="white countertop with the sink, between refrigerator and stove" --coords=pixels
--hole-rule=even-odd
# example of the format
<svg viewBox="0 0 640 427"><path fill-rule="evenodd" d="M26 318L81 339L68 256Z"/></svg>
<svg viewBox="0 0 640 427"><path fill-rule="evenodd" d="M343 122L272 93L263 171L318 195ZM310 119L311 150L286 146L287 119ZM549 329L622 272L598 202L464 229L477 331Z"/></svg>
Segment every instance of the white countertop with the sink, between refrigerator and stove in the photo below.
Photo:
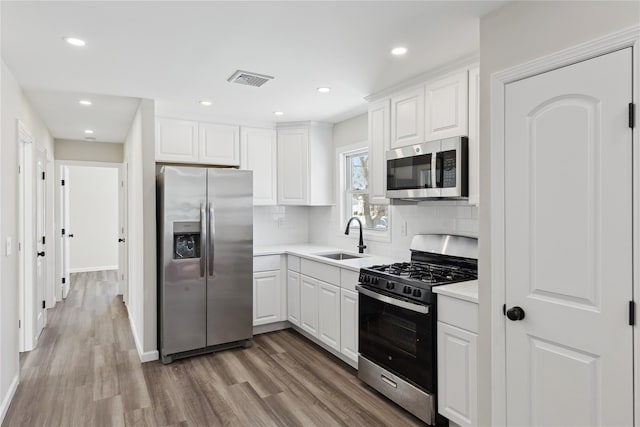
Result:
<svg viewBox="0 0 640 427"><path fill-rule="evenodd" d="M255 246L253 248L254 256L261 255L295 255L301 258L307 258L314 261L324 262L325 264L335 265L340 268L346 268L353 271L360 271L363 267L370 267L372 265L377 264L391 264L394 262L402 262L408 261L406 259L398 259L392 258L384 255L374 255L374 254L361 254L362 257L345 259L345 260L335 260L331 258L325 258L318 256L318 254L322 253L331 253L331 252L343 252L352 255L360 255L354 251L348 251L340 248L335 248L331 246L321 246L314 245L310 243L292 243L285 245L275 245L275 246Z"/></svg>

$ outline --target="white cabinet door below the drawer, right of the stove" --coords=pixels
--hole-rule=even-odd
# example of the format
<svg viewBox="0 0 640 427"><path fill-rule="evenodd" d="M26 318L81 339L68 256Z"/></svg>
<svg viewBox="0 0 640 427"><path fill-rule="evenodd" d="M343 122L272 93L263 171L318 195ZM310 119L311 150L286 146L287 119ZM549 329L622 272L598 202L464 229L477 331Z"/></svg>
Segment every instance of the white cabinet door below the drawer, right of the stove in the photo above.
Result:
<svg viewBox="0 0 640 427"><path fill-rule="evenodd" d="M438 412L461 426L478 425L477 340L438 322Z"/></svg>

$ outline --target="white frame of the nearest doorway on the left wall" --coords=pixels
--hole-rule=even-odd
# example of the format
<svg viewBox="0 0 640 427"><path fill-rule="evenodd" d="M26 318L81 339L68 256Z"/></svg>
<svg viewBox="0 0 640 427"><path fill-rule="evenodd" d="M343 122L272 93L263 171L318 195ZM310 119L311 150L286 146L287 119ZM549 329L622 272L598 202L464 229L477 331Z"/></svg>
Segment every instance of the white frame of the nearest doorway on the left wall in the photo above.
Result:
<svg viewBox="0 0 640 427"><path fill-rule="evenodd" d="M18 127L18 351L31 351L35 347L34 323L34 176L33 159L35 140L20 120ZM27 226L31 224L32 226ZM30 254L30 255L29 255ZM27 289L27 284L31 284Z"/></svg>

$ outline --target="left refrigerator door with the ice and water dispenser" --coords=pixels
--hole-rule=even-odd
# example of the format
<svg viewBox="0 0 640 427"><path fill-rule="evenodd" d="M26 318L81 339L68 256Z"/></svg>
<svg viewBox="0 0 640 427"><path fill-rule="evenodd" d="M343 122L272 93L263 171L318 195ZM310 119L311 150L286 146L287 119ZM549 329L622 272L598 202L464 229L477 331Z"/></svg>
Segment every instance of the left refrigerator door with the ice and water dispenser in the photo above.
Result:
<svg viewBox="0 0 640 427"><path fill-rule="evenodd" d="M164 166L158 181L162 356L206 346L207 170ZM159 242L160 243L160 242Z"/></svg>

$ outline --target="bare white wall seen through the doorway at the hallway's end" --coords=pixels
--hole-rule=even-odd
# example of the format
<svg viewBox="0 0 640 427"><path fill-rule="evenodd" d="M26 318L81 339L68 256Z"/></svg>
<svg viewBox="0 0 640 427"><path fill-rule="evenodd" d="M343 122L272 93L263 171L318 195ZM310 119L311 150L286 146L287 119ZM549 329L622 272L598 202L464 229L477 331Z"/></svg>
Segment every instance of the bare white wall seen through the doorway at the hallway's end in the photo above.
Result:
<svg viewBox="0 0 640 427"><path fill-rule="evenodd" d="M71 272L118 267L118 169L69 166Z"/></svg>

